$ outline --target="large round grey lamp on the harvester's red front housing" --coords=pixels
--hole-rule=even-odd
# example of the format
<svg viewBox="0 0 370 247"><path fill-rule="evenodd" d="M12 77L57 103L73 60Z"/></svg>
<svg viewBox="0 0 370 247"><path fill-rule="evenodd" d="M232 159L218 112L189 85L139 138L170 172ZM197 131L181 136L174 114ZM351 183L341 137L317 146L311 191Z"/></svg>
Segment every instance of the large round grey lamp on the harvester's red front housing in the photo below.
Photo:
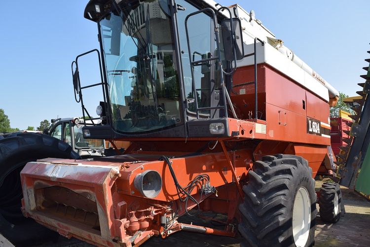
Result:
<svg viewBox="0 0 370 247"><path fill-rule="evenodd" d="M162 178L157 171L148 170L135 176L134 186L143 196L154 198L162 189Z"/></svg>

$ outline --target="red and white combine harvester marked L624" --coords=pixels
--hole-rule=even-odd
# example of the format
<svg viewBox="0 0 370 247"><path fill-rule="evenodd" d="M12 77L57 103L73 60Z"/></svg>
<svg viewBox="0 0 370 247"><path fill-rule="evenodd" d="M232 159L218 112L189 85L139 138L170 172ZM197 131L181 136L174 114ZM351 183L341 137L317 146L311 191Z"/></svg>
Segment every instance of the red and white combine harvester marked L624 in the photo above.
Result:
<svg viewBox="0 0 370 247"><path fill-rule="evenodd" d="M85 126L84 138L130 146L112 157L29 162L24 215L97 246L236 229L243 246L313 245L313 177L334 168L329 107L338 92L236 4L90 0L84 16L101 46L72 64L84 118L96 119L82 91L101 86L104 96L102 124ZM102 81L81 86L78 59L93 52ZM335 222L340 191L324 187L321 217ZM227 214L225 228L179 221L200 211Z"/></svg>

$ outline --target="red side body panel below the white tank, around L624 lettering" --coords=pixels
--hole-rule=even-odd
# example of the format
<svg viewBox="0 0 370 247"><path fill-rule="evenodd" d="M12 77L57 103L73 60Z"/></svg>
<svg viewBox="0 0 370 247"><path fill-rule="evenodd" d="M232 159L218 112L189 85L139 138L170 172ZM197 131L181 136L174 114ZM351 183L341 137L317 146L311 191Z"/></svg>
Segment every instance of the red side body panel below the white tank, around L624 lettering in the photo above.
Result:
<svg viewBox="0 0 370 247"><path fill-rule="evenodd" d="M254 84L244 84L254 80L253 68L240 68L234 75L234 88L239 90L234 91L245 90L245 95L231 96L241 116L248 116L250 111L254 114ZM259 65L258 97L258 111L266 121L266 139L330 145L329 137L307 133L307 117L329 124L329 105L323 99L268 65Z"/></svg>

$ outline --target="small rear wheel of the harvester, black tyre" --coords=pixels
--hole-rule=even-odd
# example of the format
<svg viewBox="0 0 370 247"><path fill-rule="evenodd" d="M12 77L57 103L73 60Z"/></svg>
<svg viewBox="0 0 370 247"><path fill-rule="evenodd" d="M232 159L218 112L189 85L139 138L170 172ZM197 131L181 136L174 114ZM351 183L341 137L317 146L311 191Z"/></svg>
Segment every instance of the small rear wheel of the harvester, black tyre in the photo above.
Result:
<svg viewBox="0 0 370 247"><path fill-rule="evenodd" d="M342 211L342 193L339 184L325 182L320 188L320 218L326 223L336 223Z"/></svg>

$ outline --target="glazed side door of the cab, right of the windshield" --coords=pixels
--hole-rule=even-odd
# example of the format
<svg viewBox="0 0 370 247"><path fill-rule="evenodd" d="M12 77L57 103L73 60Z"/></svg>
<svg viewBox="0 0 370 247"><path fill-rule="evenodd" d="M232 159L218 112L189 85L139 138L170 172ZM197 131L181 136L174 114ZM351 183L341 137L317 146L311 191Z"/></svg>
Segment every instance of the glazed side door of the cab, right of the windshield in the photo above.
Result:
<svg viewBox="0 0 370 247"><path fill-rule="evenodd" d="M199 13L187 20L188 42L186 38L185 18L188 14L198 11L185 0L176 1L185 10L177 12L178 35L181 50L181 64L183 71L184 92L188 103L188 120L193 118L195 112L195 97L198 108L220 106L221 83L220 67L218 61L210 61L193 67L195 90L192 88L191 61L217 57L213 19L206 13ZM190 46L190 54L188 51ZM190 58L190 59L189 59ZM194 95L196 92L196 96ZM207 109L199 112L202 118L223 117L222 109Z"/></svg>

